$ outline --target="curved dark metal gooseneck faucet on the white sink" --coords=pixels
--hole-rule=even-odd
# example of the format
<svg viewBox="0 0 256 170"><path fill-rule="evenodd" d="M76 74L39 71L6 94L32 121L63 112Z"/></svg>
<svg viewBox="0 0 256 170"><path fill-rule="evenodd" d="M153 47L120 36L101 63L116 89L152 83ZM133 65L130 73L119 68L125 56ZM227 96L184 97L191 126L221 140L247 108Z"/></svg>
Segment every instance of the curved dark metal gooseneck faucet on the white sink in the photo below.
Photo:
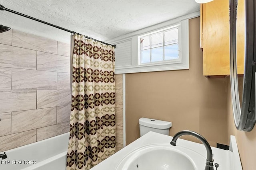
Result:
<svg viewBox="0 0 256 170"><path fill-rule="evenodd" d="M213 157L212 149L211 149L209 143L206 141L206 139L202 135L200 135L194 131L180 131L174 135L170 144L175 147L177 139L183 135L191 135L193 137L196 137L204 144L204 146L207 150L206 166L205 166L204 170L214 170L214 166L213 166L214 160L212 158ZM216 167L216 169L217 169L217 167Z"/></svg>

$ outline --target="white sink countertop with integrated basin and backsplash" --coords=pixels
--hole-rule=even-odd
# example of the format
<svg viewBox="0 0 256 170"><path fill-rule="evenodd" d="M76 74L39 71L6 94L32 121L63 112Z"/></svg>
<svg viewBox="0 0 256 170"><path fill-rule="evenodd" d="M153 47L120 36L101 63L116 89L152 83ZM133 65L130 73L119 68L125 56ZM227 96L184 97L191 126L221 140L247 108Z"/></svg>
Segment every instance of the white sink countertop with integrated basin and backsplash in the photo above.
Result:
<svg viewBox="0 0 256 170"><path fill-rule="evenodd" d="M171 136L149 132L91 170L204 170L204 145L178 139L174 147L170 141ZM212 153L218 170L242 170L234 136L230 137L230 150L212 147Z"/></svg>

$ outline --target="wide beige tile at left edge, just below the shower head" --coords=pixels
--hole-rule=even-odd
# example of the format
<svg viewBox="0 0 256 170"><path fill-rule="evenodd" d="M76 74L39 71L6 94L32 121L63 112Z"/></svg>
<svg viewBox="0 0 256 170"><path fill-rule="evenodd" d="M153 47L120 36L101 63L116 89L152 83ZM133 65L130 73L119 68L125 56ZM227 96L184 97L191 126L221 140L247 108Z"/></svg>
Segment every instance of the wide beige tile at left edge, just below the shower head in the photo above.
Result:
<svg viewBox="0 0 256 170"><path fill-rule="evenodd" d="M0 44L0 66L36 70L36 51Z"/></svg>

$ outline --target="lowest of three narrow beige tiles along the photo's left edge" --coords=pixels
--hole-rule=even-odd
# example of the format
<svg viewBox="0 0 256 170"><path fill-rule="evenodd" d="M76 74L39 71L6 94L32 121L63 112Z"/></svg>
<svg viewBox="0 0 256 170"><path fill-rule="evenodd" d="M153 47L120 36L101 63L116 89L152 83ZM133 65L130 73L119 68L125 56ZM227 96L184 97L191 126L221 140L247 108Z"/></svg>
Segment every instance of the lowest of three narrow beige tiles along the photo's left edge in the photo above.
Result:
<svg viewBox="0 0 256 170"><path fill-rule="evenodd" d="M0 136L11 134L11 112L0 113Z"/></svg>

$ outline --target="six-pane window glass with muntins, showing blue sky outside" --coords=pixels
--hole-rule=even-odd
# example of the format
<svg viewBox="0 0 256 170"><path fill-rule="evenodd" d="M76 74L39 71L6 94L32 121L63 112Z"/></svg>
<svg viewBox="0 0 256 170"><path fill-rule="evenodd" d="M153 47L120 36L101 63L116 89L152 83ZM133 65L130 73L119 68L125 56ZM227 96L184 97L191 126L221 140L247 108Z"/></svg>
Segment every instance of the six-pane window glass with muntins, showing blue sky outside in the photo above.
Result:
<svg viewBox="0 0 256 170"><path fill-rule="evenodd" d="M180 25L174 25L138 37L139 64L164 63L179 59Z"/></svg>

